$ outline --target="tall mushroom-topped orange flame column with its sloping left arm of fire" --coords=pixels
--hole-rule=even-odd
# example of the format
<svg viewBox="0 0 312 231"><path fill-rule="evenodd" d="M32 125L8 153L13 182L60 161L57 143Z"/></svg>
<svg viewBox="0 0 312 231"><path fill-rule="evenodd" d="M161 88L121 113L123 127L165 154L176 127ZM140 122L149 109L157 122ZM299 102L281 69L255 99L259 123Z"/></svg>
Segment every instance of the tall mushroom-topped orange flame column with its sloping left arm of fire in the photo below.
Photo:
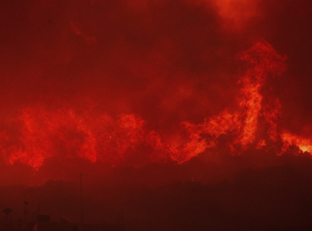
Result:
<svg viewBox="0 0 312 231"><path fill-rule="evenodd" d="M274 48L266 42L257 42L250 49L238 54L241 60L249 61L252 65L241 77L239 83L242 84L241 94L243 100L240 108L233 114L227 110L218 116L205 119L200 125L192 125L184 122L183 126L188 130L191 141L180 148L180 153L184 153L183 159L179 162L189 160L209 147L217 145L217 138L221 134L234 135L234 143L228 144L233 152L245 150L249 145L257 142L257 147L264 146L265 140L256 140L258 130L259 115L265 115L269 124L269 137L276 140L276 119L280 110L278 100L272 107L262 105L263 96L260 94L261 87L265 84L269 73L280 74L285 70L283 61L286 57L276 53ZM235 148L236 147L236 148Z"/></svg>

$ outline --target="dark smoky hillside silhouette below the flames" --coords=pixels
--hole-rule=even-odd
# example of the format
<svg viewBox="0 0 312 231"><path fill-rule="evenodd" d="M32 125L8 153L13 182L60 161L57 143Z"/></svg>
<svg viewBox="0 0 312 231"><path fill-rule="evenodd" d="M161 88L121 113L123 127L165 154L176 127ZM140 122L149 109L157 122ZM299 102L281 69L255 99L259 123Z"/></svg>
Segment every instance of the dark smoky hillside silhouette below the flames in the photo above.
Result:
<svg viewBox="0 0 312 231"><path fill-rule="evenodd" d="M85 172L84 224L98 230L309 230L311 158L254 154L220 156L213 165L207 162L207 152L182 165L114 168L110 181L88 183ZM220 174L224 168L227 171ZM0 205L13 208L11 217L22 217L23 197L18 195L23 193L29 202L27 220L34 218L31 225L40 204L40 214L49 214L50 222L42 221L46 230L79 228L79 180L2 187Z"/></svg>

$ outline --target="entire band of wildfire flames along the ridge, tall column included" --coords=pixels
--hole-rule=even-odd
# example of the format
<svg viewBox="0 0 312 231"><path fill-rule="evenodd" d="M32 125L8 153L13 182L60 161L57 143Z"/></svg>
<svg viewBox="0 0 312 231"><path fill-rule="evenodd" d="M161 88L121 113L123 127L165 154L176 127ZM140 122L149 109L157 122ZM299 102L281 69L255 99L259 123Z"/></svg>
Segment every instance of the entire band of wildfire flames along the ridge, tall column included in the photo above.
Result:
<svg viewBox="0 0 312 231"><path fill-rule="evenodd" d="M173 150L139 115L124 114L116 118L107 114L78 114L70 107L47 110L27 107L14 121L17 132L0 133L0 147L7 163L16 161L38 169L52 156L85 158L111 165L142 166L151 162L190 160L207 148L216 148L221 135L232 155L248 148L266 149L267 144L282 142L281 153L290 145L302 152L312 152L312 141L287 132L280 133L279 100L261 94L268 76L285 71L286 56L279 55L267 42L257 42L237 58L249 63L241 76L241 102L234 112L222 111L201 124L182 122L189 142ZM14 129L13 129L14 130Z"/></svg>

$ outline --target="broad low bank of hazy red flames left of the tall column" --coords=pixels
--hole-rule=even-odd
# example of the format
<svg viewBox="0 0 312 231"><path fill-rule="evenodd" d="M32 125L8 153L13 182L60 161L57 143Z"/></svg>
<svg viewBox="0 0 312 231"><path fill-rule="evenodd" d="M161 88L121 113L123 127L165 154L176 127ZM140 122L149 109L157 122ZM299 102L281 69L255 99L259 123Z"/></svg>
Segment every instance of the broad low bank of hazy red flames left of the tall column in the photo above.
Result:
<svg viewBox="0 0 312 231"><path fill-rule="evenodd" d="M113 119L77 115L73 109L48 111L44 108L25 108L18 118L21 123L19 144L4 148L8 163L16 161L38 169L46 158L97 159L112 165L127 162L140 147L151 152L144 163L168 158L172 150L154 130L146 129L146 121L139 116L120 115ZM4 134L2 140L8 139ZM149 148L148 148L149 147ZM151 151L152 150L152 151ZM132 163L140 166L140 161Z"/></svg>

